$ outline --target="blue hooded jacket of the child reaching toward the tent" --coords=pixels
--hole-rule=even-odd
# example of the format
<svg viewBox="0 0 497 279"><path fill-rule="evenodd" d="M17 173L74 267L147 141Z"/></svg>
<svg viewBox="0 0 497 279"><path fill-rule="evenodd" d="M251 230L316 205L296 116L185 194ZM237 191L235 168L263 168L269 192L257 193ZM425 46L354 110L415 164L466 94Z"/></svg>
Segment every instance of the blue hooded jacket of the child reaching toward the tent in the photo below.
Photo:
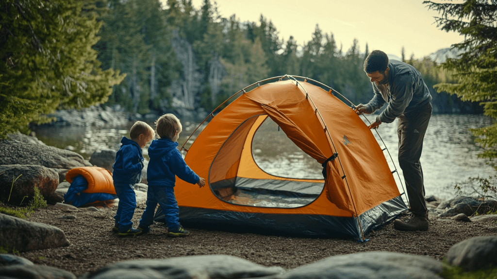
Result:
<svg viewBox="0 0 497 279"><path fill-rule="evenodd" d="M174 187L176 176L191 184L198 183L200 178L186 165L177 146L177 142L166 138L152 141L147 167L148 185Z"/></svg>

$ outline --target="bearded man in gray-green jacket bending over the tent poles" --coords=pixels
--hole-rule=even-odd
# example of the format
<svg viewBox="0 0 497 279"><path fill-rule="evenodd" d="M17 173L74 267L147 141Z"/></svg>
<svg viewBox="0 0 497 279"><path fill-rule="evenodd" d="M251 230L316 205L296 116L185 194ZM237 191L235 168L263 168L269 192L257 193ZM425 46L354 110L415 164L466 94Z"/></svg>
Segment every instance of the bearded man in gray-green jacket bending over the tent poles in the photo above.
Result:
<svg viewBox="0 0 497 279"><path fill-rule="evenodd" d="M387 54L379 50L368 55L364 61L364 72L371 79L374 96L367 104L357 105L355 111L371 114L387 103L385 110L369 126L371 129L399 118L399 165L404 173L412 216L406 221L396 219L394 228L426 231L428 210L419 158L432 111L428 87L413 66L389 61Z"/></svg>

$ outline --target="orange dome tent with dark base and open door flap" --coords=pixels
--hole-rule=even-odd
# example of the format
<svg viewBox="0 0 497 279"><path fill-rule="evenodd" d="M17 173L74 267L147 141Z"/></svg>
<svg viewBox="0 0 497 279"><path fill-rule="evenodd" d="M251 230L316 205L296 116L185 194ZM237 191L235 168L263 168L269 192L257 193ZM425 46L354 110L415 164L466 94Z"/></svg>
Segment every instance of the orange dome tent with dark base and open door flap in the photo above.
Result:
<svg viewBox="0 0 497 279"><path fill-rule="evenodd" d="M183 226L364 239L407 209L371 130L334 91L310 82L317 83L294 76L261 81L213 116L185 156L206 186L176 179ZM268 119L323 164L326 179L277 177L256 164L252 139ZM273 198L292 202L259 202ZM155 219L162 218L159 209Z"/></svg>

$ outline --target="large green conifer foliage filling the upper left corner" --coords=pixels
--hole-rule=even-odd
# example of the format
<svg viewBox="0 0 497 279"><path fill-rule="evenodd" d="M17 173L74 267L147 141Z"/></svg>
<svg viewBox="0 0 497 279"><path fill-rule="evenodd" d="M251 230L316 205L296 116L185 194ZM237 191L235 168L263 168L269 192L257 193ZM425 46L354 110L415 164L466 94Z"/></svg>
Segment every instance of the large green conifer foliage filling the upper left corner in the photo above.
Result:
<svg viewBox="0 0 497 279"><path fill-rule="evenodd" d="M100 23L90 0L0 4L0 138L57 108L105 102L124 76L102 71L91 48Z"/></svg>

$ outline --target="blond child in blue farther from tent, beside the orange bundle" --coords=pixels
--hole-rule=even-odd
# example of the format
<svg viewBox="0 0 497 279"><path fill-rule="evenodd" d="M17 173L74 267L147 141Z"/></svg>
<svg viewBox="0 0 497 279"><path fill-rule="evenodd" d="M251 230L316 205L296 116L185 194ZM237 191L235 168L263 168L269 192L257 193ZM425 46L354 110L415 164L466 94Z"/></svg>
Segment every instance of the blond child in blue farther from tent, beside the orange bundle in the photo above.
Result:
<svg viewBox="0 0 497 279"><path fill-rule="evenodd" d="M114 216L114 232L119 236L140 235L142 230L133 228L133 214L136 209L136 194L134 185L142 179L143 155L142 148L153 139L155 131L149 124L137 121L131 127L130 138L121 139L121 147L116 153L116 161L112 168L112 180L119 204Z"/></svg>

